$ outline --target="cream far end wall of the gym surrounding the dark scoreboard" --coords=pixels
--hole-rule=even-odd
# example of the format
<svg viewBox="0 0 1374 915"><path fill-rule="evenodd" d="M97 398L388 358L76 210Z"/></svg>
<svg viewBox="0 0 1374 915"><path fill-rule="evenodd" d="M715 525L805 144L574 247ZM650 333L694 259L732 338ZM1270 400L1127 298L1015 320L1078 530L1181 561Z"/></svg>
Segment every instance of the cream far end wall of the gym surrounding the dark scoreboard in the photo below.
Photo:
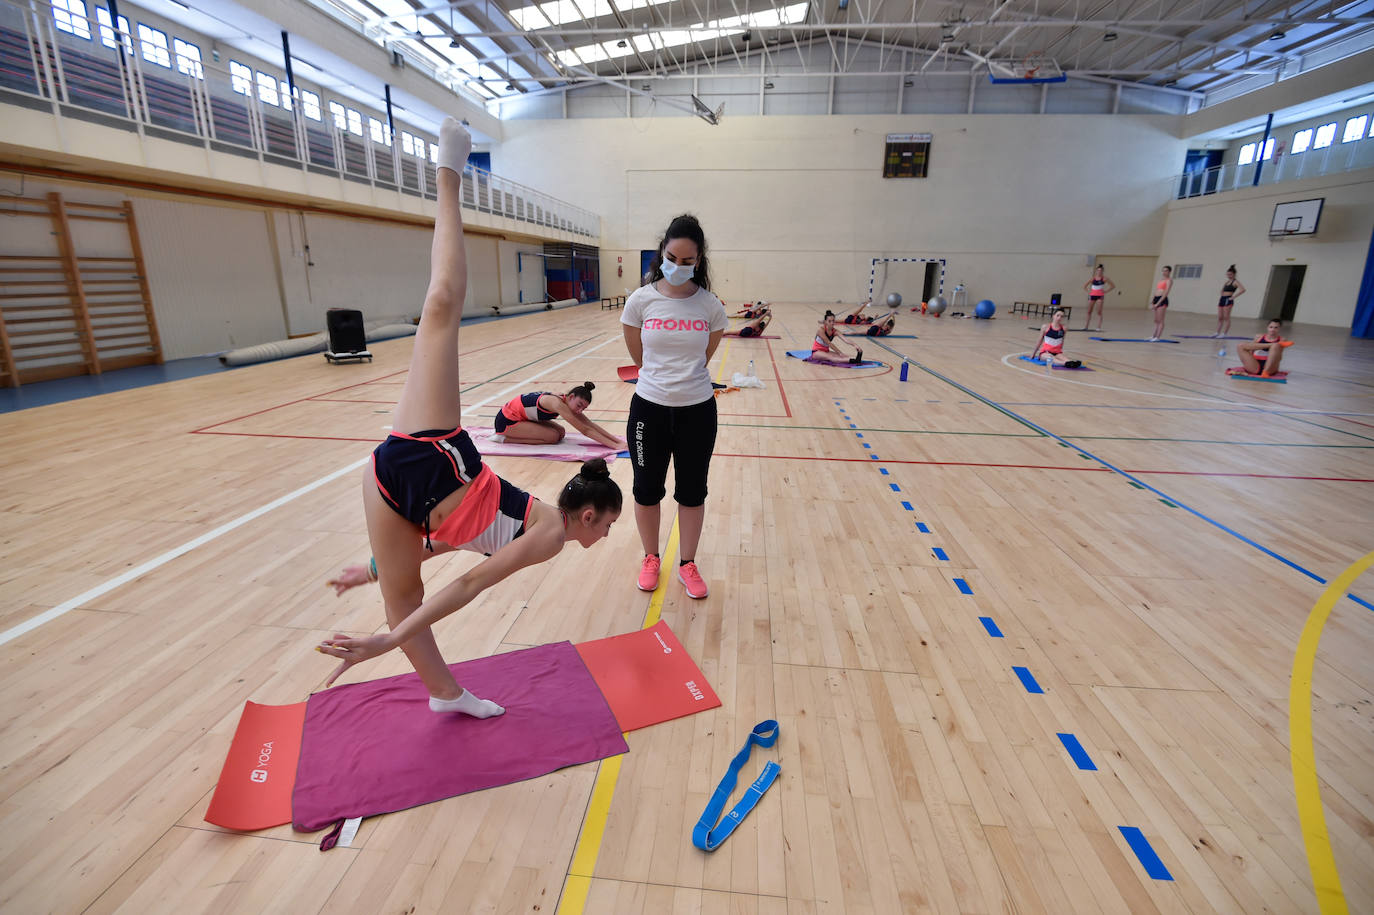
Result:
<svg viewBox="0 0 1374 915"><path fill-rule="evenodd" d="M853 301L874 256L936 256L951 286L1007 304L1069 293L1092 254L1158 254L1182 169L1176 118L856 115L511 121L493 166L602 214L616 257L669 218L706 229L727 301ZM885 135L933 132L930 177L885 180ZM1091 142L1088 142L1091 139ZM908 298L914 294L904 290Z"/></svg>

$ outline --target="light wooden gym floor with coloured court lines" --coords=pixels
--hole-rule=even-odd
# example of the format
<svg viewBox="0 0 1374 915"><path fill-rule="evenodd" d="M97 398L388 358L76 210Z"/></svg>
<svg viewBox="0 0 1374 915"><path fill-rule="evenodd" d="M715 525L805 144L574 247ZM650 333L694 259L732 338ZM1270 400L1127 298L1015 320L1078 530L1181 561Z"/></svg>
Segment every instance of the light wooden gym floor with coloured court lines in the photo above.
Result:
<svg viewBox="0 0 1374 915"><path fill-rule="evenodd" d="M728 379L752 359L767 387L719 401L709 599L666 574L635 589L627 510L606 543L437 626L456 661L661 613L723 708L631 734L617 761L364 820L327 853L202 815L245 699L306 698L331 669L317 639L383 625L375 588L324 581L368 555L360 462L411 341L0 416L0 910L1315 912L1311 853L1374 911L1369 603L1334 603L1309 699L1298 664L1315 739L1289 727L1311 576L1374 548L1374 343L1298 327L1281 386L1227 379L1213 341L1072 334L1096 371L1050 374L1015 360L1021 319L904 316L900 382L878 346L893 368L786 359L819 312L782 305L782 339L727 338L713 364ZM618 317L464 328L471 422L594 379L591 412L617 427ZM1142 335L1149 316L1109 324ZM573 471L492 463L545 499ZM1374 576L1351 591L1374 599ZM405 669L396 653L353 676ZM778 784L697 852L691 826L769 717L778 746L742 783L763 756ZM1319 797L1296 794L1294 761ZM1300 809L1325 809L1330 861Z"/></svg>

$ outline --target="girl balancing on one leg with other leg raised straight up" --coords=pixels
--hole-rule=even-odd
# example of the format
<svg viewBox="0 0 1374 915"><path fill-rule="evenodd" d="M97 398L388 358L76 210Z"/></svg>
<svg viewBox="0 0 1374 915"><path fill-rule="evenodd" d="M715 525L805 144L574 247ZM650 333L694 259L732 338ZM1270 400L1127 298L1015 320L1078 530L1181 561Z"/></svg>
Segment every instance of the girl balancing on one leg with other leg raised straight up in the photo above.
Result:
<svg viewBox="0 0 1374 915"><path fill-rule="evenodd" d="M471 148L467 131L447 118L440 128L430 282L411 370L393 414L396 431L372 452L363 482L367 536L390 631L363 639L335 633L316 650L342 661L324 681L331 686L359 661L400 647L429 690L430 709L486 719L504 709L459 686L430 626L518 569L551 559L569 540L591 547L620 517L621 495L606 462L589 460L563 486L558 507L541 503L482 464L459 425L455 353L467 289L459 206L462 169ZM420 561L436 540L489 558L426 600Z"/></svg>

